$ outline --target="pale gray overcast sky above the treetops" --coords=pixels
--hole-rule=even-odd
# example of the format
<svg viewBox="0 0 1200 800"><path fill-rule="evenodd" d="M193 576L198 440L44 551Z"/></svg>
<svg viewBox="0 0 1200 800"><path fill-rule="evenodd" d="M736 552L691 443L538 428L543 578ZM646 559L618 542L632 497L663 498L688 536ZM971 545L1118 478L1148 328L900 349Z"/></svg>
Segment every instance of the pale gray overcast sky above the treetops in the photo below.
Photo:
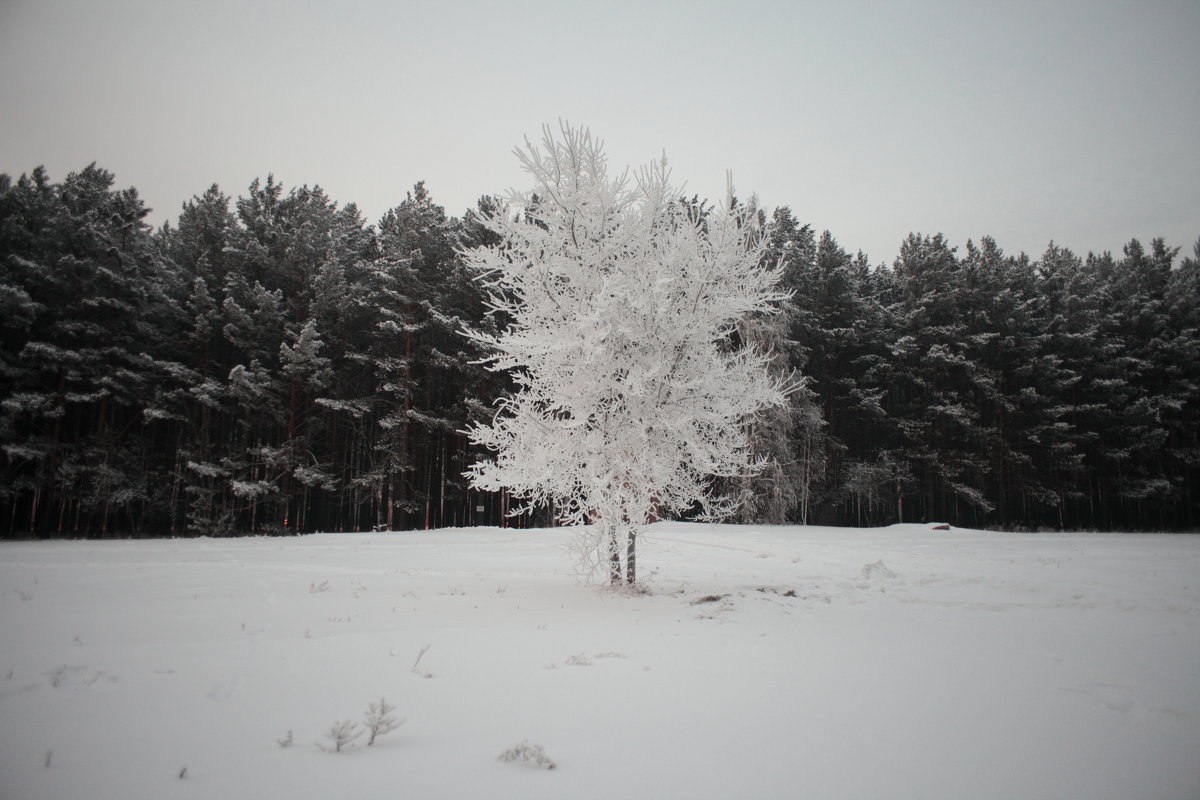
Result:
<svg viewBox="0 0 1200 800"><path fill-rule="evenodd" d="M96 161L156 224L269 172L457 216L563 118L872 263L910 231L1190 253L1198 42L1198 0L0 0L0 172Z"/></svg>

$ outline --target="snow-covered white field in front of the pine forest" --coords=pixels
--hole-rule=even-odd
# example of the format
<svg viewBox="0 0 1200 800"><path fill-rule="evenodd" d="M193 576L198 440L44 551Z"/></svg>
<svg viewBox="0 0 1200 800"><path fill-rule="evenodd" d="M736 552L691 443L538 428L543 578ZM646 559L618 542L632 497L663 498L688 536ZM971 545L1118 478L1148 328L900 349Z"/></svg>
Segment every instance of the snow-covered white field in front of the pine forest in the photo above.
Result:
<svg viewBox="0 0 1200 800"><path fill-rule="evenodd" d="M1200 798L1200 536L564 539L0 543L0 798Z"/></svg>

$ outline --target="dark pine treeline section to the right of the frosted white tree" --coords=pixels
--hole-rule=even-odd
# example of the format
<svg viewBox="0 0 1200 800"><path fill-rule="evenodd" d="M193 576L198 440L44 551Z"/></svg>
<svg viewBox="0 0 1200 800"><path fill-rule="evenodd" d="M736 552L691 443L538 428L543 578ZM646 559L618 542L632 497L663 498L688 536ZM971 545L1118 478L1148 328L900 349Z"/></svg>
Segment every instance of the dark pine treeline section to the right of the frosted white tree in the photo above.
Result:
<svg viewBox="0 0 1200 800"><path fill-rule="evenodd" d="M871 269L785 207L766 223L810 380L750 513L1003 529L1200 524L1200 242L1037 260L910 235ZM772 425L772 422L774 422Z"/></svg>

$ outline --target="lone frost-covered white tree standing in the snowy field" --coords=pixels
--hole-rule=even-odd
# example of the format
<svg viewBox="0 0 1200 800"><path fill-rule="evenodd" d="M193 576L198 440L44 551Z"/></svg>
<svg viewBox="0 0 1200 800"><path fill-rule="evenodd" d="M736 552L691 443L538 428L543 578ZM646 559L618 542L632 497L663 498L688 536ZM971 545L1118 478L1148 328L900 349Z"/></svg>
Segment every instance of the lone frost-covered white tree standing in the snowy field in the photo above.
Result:
<svg viewBox="0 0 1200 800"><path fill-rule="evenodd" d="M565 124L516 155L533 192L484 221L498 243L466 253L500 321L467 335L515 381L469 431L496 455L468 476L520 510L552 504L581 525L586 572L632 583L642 525L689 510L720 518L737 501L712 479L761 468L748 423L791 384L738 325L786 294L732 191L702 212L679 199L665 158L612 178L602 143Z"/></svg>

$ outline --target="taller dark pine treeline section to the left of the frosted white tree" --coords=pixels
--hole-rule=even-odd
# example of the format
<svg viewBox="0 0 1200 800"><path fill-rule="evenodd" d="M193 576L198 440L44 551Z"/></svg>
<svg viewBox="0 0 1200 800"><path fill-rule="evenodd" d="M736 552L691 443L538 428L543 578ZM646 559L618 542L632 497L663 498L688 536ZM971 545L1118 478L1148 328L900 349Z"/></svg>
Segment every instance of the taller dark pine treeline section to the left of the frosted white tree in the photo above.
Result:
<svg viewBox="0 0 1200 800"><path fill-rule="evenodd" d="M461 476L458 431L504 387L457 333L485 317L472 215L418 184L368 225L271 178L146 213L95 166L0 184L5 533L502 519Z"/></svg>

